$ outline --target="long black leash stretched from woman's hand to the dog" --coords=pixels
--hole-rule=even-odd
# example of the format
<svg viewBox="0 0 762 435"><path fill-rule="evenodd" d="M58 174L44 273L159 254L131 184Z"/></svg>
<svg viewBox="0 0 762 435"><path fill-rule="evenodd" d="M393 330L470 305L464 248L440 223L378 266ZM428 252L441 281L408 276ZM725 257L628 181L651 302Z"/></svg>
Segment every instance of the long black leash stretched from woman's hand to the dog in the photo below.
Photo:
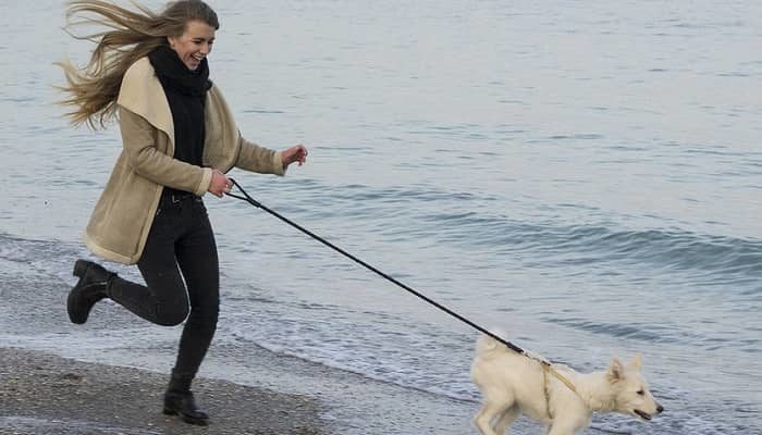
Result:
<svg viewBox="0 0 762 435"><path fill-rule="evenodd" d="M373 268L372 265L370 265L370 264L366 263L365 261L358 259L357 257L351 254L349 252L346 252L346 251L343 250L342 248L340 248L340 247L337 247L337 246L331 244L330 241L328 241L328 240L323 239L322 237L320 237L320 236L314 234L312 232L310 232L310 231L308 231L308 229L306 229L306 228L304 228L304 227L302 227L302 226L295 224L294 222L287 220L286 217L282 216L282 215L279 214L278 212L268 209L268 208L265 207L261 202L259 202L259 201L257 201L256 199L251 198L251 196L249 196L249 195L246 192L246 190L244 190L244 188L241 187L241 185L239 185L235 179L230 178L230 177L229 177L228 179L230 179L230 181L235 185L235 187L237 187L238 190L241 190L241 192L244 195L244 196L241 196L241 195L234 195L234 194L231 194L231 192L225 194L225 195L228 195L229 197L233 197L233 198L237 198L237 199L244 200L244 201L250 203L251 206L254 206L254 207L256 207L256 208L258 208L258 209L265 210L266 212L268 212L268 213L272 214L273 216L280 219L281 221L287 223L288 225L293 226L294 228L300 231L302 233L304 233L304 234L306 234L306 235L312 237L314 239L320 241L321 244L323 244L323 245L325 245L325 246L332 248L333 250L337 251L339 253L341 253L341 254L343 254L343 256L349 258L352 261L354 261L354 262L356 262L356 263L358 263L358 264L360 264L360 265L362 265L362 266L365 266L365 268L367 268L367 269L369 269L369 270L376 272L377 274L383 276L384 278L391 281L392 283L394 283L394 284L398 285L400 287L406 289L407 291L409 291L409 293L411 293L413 295L419 297L420 299L423 299L425 301L427 301L427 302L431 303L432 306L439 308L440 310L446 312L447 314L452 315L453 318L455 318L455 319L457 319L457 320L459 320L459 321L466 323L467 325L474 327L475 330L479 331L480 333L486 334L486 335L488 335L488 336L494 338L495 340L497 340L497 341L502 343L503 345L507 346L511 350L513 350L513 351L515 351L515 352L518 352L518 353L521 353L521 355L524 355L524 356L526 356L526 357L528 357L528 358L531 358L531 359L533 359L533 360L536 360L536 361L539 361L540 363L542 363L542 364L545 365L545 366L550 366L550 365L551 365L551 363L550 363L548 360L545 360L545 359L543 359L543 358L541 358L541 357L538 357L538 356L528 353L527 351L525 351L525 350L521 349L520 347L518 347L518 346L512 344L511 341L507 341L507 340L505 340L504 338L502 338L502 337L500 337L500 336L497 336L497 335L495 335L495 334L493 334L493 333L491 333L491 332L484 330L483 327L477 325L476 323L474 323L474 322L471 322L470 320L464 318L463 315L456 313L455 311L448 309L447 307L444 307L443 304L441 304L441 303L439 303L439 302L437 302L437 301L434 301L434 300L432 300L432 299L426 297L425 295L420 294L419 291L414 290L414 289L410 288L409 286L407 286L407 285L401 283L400 281L393 278L392 276L389 276L388 274L381 272L380 270Z"/></svg>

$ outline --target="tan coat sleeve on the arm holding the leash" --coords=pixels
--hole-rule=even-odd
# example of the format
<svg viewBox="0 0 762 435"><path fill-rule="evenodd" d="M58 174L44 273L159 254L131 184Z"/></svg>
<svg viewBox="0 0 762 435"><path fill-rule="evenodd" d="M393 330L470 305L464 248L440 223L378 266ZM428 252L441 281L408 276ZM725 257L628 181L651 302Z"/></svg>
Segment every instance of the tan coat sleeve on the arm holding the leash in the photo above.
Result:
<svg viewBox="0 0 762 435"><path fill-rule="evenodd" d="M174 159L157 148L161 130L143 116L119 108L122 146L136 174L162 186L202 196L209 189L212 171ZM169 139L168 139L169 140Z"/></svg>

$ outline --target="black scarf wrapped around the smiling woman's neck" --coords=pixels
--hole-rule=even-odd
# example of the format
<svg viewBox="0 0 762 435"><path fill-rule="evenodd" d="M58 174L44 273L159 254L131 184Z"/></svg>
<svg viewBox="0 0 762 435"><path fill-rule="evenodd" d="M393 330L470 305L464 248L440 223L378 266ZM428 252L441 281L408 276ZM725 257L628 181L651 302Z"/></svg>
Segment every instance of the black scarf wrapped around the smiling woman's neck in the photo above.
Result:
<svg viewBox="0 0 762 435"><path fill-rule="evenodd" d="M188 70L177 52L169 46L159 46L148 54L161 85L170 86L182 94L202 97L211 87L209 63L206 58L195 71Z"/></svg>

